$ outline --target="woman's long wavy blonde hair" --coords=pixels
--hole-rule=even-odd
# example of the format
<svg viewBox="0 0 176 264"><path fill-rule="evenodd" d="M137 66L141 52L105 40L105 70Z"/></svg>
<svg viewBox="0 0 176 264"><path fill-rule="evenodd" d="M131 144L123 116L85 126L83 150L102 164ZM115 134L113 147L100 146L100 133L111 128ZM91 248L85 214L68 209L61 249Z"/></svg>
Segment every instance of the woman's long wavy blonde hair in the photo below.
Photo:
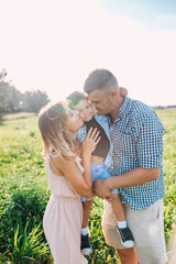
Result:
<svg viewBox="0 0 176 264"><path fill-rule="evenodd" d="M66 102L48 105L38 113L38 128L44 142L44 157L47 153L64 160L76 157L78 150L66 128L68 116L65 106Z"/></svg>

